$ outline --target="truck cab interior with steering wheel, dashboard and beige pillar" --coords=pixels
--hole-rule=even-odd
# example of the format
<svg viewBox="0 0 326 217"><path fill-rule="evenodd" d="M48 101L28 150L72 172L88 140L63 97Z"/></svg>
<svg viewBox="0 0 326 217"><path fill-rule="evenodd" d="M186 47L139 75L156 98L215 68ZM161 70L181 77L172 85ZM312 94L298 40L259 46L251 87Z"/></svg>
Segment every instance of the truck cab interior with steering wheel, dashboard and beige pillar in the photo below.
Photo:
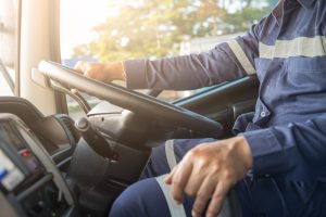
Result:
<svg viewBox="0 0 326 217"><path fill-rule="evenodd" d="M1 72L14 82L12 94L0 97L1 216L108 216L151 148L175 138L229 138L235 119L254 111L255 76L163 102L162 90L101 84L62 65L59 0L4 0L1 10ZM83 92L100 102L90 106ZM70 115L67 97L83 117ZM236 209L223 216L239 216Z"/></svg>

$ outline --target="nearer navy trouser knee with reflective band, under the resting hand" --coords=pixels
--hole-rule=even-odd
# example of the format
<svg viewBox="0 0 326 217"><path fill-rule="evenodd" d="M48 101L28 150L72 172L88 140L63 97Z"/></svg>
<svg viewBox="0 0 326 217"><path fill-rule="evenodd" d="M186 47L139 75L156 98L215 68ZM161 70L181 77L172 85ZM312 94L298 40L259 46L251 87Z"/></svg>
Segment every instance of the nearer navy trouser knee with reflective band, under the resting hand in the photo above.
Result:
<svg viewBox="0 0 326 217"><path fill-rule="evenodd" d="M110 217L186 217L191 216L192 199L177 204L164 184L164 175L142 179L127 188L114 202Z"/></svg>

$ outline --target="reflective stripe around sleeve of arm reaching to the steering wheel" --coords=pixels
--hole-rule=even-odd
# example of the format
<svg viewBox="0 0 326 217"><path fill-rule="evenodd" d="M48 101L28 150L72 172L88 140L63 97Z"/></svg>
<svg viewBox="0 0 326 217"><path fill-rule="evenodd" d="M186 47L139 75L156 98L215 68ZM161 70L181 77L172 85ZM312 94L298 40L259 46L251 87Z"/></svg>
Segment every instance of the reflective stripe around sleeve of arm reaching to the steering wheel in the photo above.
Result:
<svg viewBox="0 0 326 217"><path fill-rule="evenodd" d="M227 44L238 59L239 63L246 71L248 75L253 75L255 74L255 69L251 62L249 61L248 56L246 55L244 51L242 50L241 46L238 43L236 40L228 41Z"/></svg>

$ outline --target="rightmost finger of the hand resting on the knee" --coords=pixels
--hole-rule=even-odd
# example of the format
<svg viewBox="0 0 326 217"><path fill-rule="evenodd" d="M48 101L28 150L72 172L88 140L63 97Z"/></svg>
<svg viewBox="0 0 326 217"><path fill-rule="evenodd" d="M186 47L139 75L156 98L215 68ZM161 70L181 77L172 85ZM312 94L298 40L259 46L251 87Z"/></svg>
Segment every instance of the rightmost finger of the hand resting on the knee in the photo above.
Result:
<svg viewBox="0 0 326 217"><path fill-rule="evenodd" d="M206 217L215 217L221 210L223 205L223 200L225 199L230 186L226 181L218 181L214 194L212 196L211 203L206 210Z"/></svg>

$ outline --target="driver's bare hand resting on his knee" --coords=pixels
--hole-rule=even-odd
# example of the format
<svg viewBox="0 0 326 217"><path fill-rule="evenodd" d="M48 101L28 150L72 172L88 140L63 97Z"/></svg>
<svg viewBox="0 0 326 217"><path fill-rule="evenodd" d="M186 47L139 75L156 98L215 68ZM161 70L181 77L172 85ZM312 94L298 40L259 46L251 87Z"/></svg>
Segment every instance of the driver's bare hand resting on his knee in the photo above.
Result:
<svg viewBox="0 0 326 217"><path fill-rule="evenodd" d="M178 203L183 203L185 194L195 197L193 217L201 216L208 203L206 216L215 217L229 189L252 164L250 148L242 136L203 143L185 155L165 182L172 186L172 195Z"/></svg>

